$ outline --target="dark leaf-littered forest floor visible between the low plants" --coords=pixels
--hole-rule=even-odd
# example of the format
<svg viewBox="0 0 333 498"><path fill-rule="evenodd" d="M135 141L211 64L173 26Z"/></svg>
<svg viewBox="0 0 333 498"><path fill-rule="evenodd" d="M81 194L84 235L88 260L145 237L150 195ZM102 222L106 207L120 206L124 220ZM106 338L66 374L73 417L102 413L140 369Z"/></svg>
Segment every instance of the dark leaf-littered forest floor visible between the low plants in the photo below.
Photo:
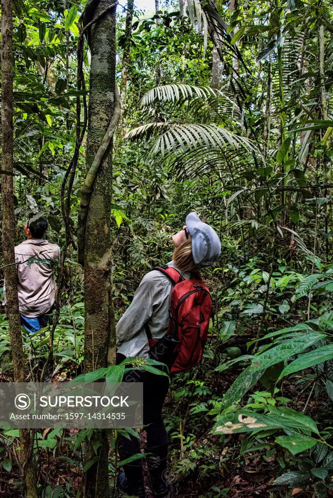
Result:
<svg viewBox="0 0 333 498"><path fill-rule="evenodd" d="M228 346L237 346L243 353L245 343L250 340L250 336L235 337L233 340L228 342ZM52 381L66 381L70 380L71 374L70 365L66 365L65 369L58 372ZM218 383L216 385L216 377L211 376L211 381L206 381L205 384L213 391L221 393L226 392L228 387L232 384L237 375L241 372L241 368L229 371L225 375L218 376ZM10 376L5 376L0 378L1 381L12 381ZM210 384L211 382L211 384ZM302 392L301 387L296 387L295 383L285 381L283 384L283 396L288 397L292 400L289 404L290 407L298 410L304 410L309 415L315 415L316 411L320 409L319 401L314 398L309 398L306 392ZM172 409L173 400L166 398L166 410ZM184 415L184 414L183 414ZM196 438L192 449L202 448L202 447L216 447L216 442L218 436L210 433L210 427L207 425L207 430L200 437ZM192 429L193 430L193 429ZM68 430L66 436L73 435L74 430ZM207 477L202 477L202 473L198 476L197 471L191 471L188 473L186 478L179 478L175 476L174 482L171 484L171 496L178 498L194 498L194 497L212 497L218 496L227 498L270 498L270 497L288 497L296 496L297 498L310 498L313 497L313 492L306 491L301 488L294 488L292 495L288 494L288 488L281 487L278 489L273 485L274 480L281 475L283 472L292 470L288 468L288 464L285 469L283 469L278 460L282 461L278 453L274 453L271 456L267 456L266 450L262 452L252 452L246 453L246 456L239 458L240 443L244 435L230 435L226 439L225 448L219 450L219 454L216 455L215 463L216 468L219 469L218 472L212 474L209 470ZM142 441L144 446L145 432L142 431ZM272 436L272 442L274 441L274 436ZM275 447L276 448L276 447ZM281 457L284 453L281 449ZM60 459L59 459L60 457ZM11 452L12 458L12 470L10 473L0 469L0 498L17 498L20 493L20 483L19 483L19 468L17 465L18 457L17 450L14 448ZM53 450L44 451L39 458L39 476L38 481L40 483L51 484L54 489L56 486L65 485L65 483L71 482L70 488L72 491L78 490L81 485L82 474L78 471L76 463L71 460L73 454L68 446L64 445L61 450L57 450L55 457L53 456ZM15 461L16 460L16 461ZM223 461L225 464L218 465L218 461ZM290 465L294 468L295 462L290 461ZM200 465L200 460L197 461L198 466ZM147 476L147 468L144 463L145 476ZM146 479L146 478L145 478ZM171 478L172 481L172 478ZM171 482L170 481L170 482ZM17 483L17 484L16 484ZM53 485L52 485L53 484ZM45 486L43 484L43 486ZM211 487L214 486L221 490L221 494L218 492L212 493ZM222 490L223 493L222 494ZM147 485L147 498L154 498L150 493L149 487ZM333 492L330 492L327 496L333 496ZM68 495L70 496L70 495ZM74 496L74 495L73 495Z"/></svg>

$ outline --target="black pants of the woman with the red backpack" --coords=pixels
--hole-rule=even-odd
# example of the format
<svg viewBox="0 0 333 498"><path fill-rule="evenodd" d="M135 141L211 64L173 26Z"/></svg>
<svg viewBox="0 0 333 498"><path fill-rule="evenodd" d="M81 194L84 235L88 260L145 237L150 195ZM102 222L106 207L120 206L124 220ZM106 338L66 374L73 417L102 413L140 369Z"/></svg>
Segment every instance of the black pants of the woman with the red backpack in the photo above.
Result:
<svg viewBox="0 0 333 498"><path fill-rule="evenodd" d="M117 354L117 364L125 359ZM123 382L143 382L144 406L143 422L147 432L147 447L155 448L167 444L167 433L162 418L162 408L169 388L169 379L165 375L157 375L147 371L131 370L124 375ZM119 449L125 453L140 453L140 441L119 435Z"/></svg>

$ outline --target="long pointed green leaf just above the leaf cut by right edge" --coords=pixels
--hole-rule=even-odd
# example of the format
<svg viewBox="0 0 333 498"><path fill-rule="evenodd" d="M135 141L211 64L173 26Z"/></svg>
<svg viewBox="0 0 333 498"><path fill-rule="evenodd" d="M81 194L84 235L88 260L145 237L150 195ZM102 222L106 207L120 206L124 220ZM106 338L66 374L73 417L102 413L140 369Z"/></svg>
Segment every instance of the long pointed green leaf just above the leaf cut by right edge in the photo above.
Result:
<svg viewBox="0 0 333 498"><path fill-rule="evenodd" d="M254 370L267 369L276 363L288 360L290 357L301 353L325 337L325 334L310 332L309 334L302 334L300 336L293 337L292 339L288 339L256 356L253 359L250 368Z"/></svg>

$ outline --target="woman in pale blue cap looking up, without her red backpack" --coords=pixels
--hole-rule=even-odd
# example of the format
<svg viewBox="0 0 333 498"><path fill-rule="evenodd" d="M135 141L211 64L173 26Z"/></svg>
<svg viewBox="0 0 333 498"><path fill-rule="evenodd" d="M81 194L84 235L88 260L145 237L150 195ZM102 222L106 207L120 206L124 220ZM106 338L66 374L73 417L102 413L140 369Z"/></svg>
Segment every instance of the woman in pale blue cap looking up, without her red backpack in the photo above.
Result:
<svg viewBox="0 0 333 498"><path fill-rule="evenodd" d="M200 221L194 212L186 217L186 225L173 234L174 251L172 261L167 263L178 270L183 278L190 278L202 267L211 265L221 252L221 243L216 232ZM166 333L169 323L169 302L172 283L167 275L152 270L142 279L133 301L119 320L117 332L117 363L125 357L149 358L147 327L153 339ZM143 422L147 431L146 452L149 481L155 498L168 498L168 487L163 477L167 464L167 433L162 418L163 403L169 387L169 379L147 371L132 371L123 381L143 382ZM119 451L124 460L140 453L140 443L120 436ZM119 488L128 495L145 498L145 487L141 459L124 466L119 476Z"/></svg>

